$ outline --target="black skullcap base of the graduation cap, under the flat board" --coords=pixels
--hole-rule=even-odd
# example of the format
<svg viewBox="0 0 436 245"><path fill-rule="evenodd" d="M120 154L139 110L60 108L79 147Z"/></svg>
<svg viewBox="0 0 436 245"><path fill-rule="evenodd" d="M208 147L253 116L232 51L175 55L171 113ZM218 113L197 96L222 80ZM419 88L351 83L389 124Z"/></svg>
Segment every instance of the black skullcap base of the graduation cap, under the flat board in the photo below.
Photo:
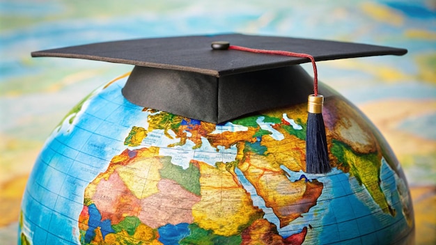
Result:
<svg viewBox="0 0 436 245"><path fill-rule="evenodd" d="M310 93L313 78L299 65L224 77L135 66L123 88L133 104L214 123L305 103Z"/></svg>

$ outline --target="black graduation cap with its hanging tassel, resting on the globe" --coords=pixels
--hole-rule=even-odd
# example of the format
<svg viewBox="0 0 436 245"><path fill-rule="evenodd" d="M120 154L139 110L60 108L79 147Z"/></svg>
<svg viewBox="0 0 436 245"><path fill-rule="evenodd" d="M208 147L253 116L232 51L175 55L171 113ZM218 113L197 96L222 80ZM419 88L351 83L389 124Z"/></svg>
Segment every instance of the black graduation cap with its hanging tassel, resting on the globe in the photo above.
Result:
<svg viewBox="0 0 436 245"><path fill-rule="evenodd" d="M316 74L313 84L299 64L312 62L316 71L315 61L406 53L406 49L351 42L226 34L100 42L32 56L135 65L123 88L127 100L215 123L302 103L315 88L315 95L309 96L306 162L324 164L308 165L306 171L326 173L323 98L317 94Z"/></svg>

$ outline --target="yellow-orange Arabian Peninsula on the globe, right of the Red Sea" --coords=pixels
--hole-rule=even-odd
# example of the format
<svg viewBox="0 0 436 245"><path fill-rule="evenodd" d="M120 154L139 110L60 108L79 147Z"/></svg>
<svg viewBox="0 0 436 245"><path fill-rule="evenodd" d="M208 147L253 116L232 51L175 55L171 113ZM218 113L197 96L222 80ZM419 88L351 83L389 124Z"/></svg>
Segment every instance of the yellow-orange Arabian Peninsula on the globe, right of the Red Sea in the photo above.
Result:
<svg viewBox="0 0 436 245"><path fill-rule="evenodd" d="M309 212L322 192L322 183L304 179L291 182L279 164L271 163L261 155L247 152L245 161L238 167L265 200L266 206L272 208L281 227Z"/></svg>

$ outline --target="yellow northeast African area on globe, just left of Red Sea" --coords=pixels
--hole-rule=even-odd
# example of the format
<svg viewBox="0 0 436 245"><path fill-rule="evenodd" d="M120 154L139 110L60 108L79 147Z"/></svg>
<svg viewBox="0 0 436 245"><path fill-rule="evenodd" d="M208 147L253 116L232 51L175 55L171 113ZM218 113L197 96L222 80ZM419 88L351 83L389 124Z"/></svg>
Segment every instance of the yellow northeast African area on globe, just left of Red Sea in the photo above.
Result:
<svg viewBox="0 0 436 245"><path fill-rule="evenodd" d="M217 235L239 234L263 212L254 207L249 196L225 164L212 167L198 161L200 169L201 200L192 207L194 222Z"/></svg>

